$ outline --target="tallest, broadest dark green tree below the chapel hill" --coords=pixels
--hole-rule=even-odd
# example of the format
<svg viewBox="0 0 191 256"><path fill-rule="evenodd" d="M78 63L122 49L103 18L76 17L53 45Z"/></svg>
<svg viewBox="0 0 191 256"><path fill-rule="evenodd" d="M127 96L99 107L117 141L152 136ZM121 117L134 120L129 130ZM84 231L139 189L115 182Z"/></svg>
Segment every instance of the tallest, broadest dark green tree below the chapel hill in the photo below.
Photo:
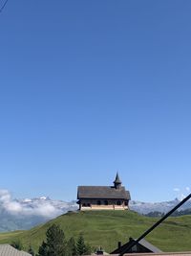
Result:
<svg viewBox="0 0 191 256"><path fill-rule="evenodd" d="M46 232L47 241L43 241L38 250L39 256L65 256L66 241L63 230L53 224Z"/></svg>

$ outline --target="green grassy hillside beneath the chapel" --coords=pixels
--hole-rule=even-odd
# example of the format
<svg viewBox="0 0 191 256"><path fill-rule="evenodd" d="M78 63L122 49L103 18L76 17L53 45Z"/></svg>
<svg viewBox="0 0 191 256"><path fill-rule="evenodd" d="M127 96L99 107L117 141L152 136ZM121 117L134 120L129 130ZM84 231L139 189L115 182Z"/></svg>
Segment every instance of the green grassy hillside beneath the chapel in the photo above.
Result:
<svg viewBox="0 0 191 256"><path fill-rule="evenodd" d="M131 211L68 213L29 231L1 233L0 244L19 239L26 247L32 244L37 250L45 239L47 228L56 223L64 230L67 239L72 236L76 239L82 233L89 244L94 247L102 245L110 252L117 247L118 241L125 243L129 237L138 238L157 220ZM163 251L181 251L191 250L190 238L191 216L183 216L167 219L146 240Z"/></svg>

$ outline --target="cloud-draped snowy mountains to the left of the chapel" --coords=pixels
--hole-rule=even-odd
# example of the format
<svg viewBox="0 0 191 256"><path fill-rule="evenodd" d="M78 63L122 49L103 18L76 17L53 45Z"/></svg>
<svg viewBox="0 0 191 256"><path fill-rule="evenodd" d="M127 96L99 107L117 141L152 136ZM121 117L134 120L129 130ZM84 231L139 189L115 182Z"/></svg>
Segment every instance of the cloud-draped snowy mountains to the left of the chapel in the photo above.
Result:
<svg viewBox="0 0 191 256"><path fill-rule="evenodd" d="M1 193L0 193L1 194ZM7 199L0 196L0 232L30 229L68 211L77 210L75 201L65 202L47 197Z"/></svg>

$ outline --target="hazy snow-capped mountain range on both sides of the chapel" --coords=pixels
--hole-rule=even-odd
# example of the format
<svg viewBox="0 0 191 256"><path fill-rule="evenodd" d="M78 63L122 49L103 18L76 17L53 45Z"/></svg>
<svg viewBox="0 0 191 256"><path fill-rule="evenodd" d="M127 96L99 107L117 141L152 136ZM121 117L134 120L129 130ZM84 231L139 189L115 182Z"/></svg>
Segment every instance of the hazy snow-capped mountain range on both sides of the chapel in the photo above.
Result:
<svg viewBox="0 0 191 256"><path fill-rule="evenodd" d="M159 217L179 202L177 198L155 203L132 200L130 209L142 215ZM8 191L0 191L0 232L30 229L68 211L76 211L77 208L75 201L66 202L48 197L12 199ZM180 215L189 214L191 212L189 209L191 209L191 200L181 206Z"/></svg>

